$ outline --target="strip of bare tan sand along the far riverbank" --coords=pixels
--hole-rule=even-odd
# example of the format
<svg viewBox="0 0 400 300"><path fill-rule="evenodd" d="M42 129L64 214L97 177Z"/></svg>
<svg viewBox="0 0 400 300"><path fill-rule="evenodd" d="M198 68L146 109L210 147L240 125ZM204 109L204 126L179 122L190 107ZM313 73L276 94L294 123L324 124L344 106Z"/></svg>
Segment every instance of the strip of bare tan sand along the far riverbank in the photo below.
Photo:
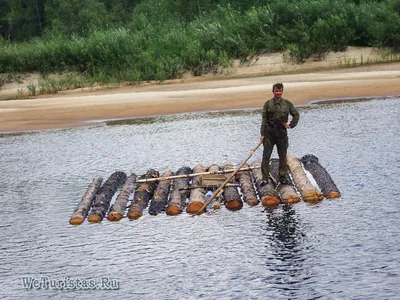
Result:
<svg viewBox="0 0 400 300"><path fill-rule="evenodd" d="M282 72L271 71L271 62L264 61L238 68L228 76L3 100L0 101L0 132L85 126L89 120L261 108L271 97L271 85L275 82L284 83L284 97L296 105L335 98L400 95L400 63L333 67L327 59L288 69L293 74L278 74ZM1 93L7 92L10 90L0 91L0 98Z"/></svg>

